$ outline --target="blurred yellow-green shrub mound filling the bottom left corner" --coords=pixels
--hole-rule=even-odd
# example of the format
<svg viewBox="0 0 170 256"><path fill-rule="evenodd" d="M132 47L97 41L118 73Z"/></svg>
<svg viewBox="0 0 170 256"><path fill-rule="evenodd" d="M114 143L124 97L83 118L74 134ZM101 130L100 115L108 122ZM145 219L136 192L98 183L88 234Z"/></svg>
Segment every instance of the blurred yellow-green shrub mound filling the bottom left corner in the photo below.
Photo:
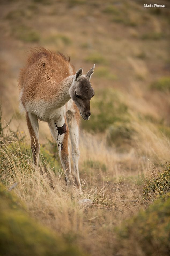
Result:
<svg viewBox="0 0 170 256"><path fill-rule="evenodd" d="M52 230L31 219L16 196L0 184L1 255L83 255Z"/></svg>

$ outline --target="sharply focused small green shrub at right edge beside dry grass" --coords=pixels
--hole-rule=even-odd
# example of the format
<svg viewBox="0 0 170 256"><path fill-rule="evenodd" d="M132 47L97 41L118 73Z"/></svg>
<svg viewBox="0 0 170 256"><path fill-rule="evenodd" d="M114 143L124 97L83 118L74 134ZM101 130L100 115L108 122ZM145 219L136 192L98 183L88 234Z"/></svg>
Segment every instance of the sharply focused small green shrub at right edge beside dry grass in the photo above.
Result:
<svg viewBox="0 0 170 256"><path fill-rule="evenodd" d="M147 180L143 192L144 198L149 200L154 200L156 195L170 192L170 165L163 172L154 174L152 179Z"/></svg>

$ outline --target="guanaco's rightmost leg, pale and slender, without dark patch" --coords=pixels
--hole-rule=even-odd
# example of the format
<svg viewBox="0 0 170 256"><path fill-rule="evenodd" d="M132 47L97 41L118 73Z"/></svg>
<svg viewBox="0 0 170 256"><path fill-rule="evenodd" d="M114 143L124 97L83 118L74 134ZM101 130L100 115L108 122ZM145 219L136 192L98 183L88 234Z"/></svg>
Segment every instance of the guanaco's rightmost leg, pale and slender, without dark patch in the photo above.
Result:
<svg viewBox="0 0 170 256"><path fill-rule="evenodd" d="M67 113L67 121L68 121L68 127L69 127L69 133L70 133L70 139L71 139L71 145L72 145L72 159L74 164L74 175L75 175L75 182L79 189L81 189L82 185L80 182L79 177L79 166L78 166L78 160L79 160L79 125L78 121L74 116L74 112Z"/></svg>

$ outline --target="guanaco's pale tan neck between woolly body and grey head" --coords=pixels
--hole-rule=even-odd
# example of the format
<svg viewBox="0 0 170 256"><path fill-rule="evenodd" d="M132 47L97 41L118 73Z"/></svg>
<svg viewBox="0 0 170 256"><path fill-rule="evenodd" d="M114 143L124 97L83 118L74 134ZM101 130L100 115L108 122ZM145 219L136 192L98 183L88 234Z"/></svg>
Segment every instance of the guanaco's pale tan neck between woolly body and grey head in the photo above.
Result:
<svg viewBox="0 0 170 256"><path fill-rule="evenodd" d="M69 88L73 82L74 75L64 78L56 87L53 92L55 107L60 108L64 106L71 98Z"/></svg>

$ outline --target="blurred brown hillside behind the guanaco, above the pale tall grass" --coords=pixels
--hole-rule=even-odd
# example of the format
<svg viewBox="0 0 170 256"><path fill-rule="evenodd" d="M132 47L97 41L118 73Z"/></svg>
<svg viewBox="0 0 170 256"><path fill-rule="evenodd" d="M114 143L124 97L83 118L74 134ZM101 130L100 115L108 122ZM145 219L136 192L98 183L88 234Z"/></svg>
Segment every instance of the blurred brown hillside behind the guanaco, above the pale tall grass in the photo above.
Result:
<svg viewBox="0 0 170 256"><path fill-rule="evenodd" d="M169 1L166 8L144 8L143 3L1 0L3 119L9 122L13 116L12 128L26 131L25 116L18 110L17 79L30 48L42 46L69 54L84 74L96 63L96 95L83 128L105 132L133 112L170 134ZM44 126L43 138L48 133Z"/></svg>

